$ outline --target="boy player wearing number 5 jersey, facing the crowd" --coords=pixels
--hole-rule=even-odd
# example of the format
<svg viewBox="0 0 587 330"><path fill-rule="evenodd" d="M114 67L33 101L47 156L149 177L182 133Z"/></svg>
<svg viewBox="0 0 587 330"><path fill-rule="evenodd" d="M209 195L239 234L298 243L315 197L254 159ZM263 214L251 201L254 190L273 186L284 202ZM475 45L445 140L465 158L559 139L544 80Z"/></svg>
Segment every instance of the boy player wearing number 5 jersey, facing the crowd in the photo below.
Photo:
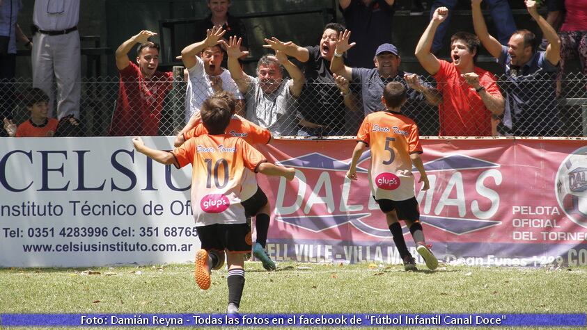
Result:
<svg viewBox="0 0 587 330"><path fill-rule="evenodd" d="M416 242L416 251L424 258L426 267L435 270L438 261L430 251L431 246L425 243L418 201L414 195L412 164L420 172L418 182L424 183L422 190L430 188L420 158L422 147L418 126L401 113L402 105L406 101L406 90L401 83L388 83L381 101L386 111L371 113L365 117L359 128L359 142L352 152L347 177L357 180L357 161L363 151L370 147L371 167L368 175L371 192L379 208L385 213L389 231L400 252L405 270L416 270L416 263L405 245L398 218L404 220L409 227Z"/></svg>

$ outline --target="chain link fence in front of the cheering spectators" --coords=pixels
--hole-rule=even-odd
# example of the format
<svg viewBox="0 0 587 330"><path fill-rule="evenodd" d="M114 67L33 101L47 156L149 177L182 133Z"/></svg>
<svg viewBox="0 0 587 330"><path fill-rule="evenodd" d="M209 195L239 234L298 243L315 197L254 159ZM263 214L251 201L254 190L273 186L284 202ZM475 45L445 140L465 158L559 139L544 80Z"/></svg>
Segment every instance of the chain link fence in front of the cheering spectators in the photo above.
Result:
<svg viewBox="0 0 587 330"><path fill-rule="evenodd" d="M211 84L208 78L187 83L181 74L176 76L175 80L148 82L121 82L118 76L82 81L79 130L69 135L175 135L201 99L214 89L236 88L217 81ZM560 81L538 76L517 81L498 76L498 90L505 99L501 115L492 115L484 108L478 94L466 83L459 86L437 83L431 77L421 79L444 95L441 105L436 106L423 93L408 90L402 112L414 119L422 136L453 135L451 131L465 131L457 135L471 136L587 136L584 74L565 74ZM396 80L402 81L399 76ZM246 118L276 136L336 138L355 135L370 110L383 109L377 90L377 85L383 85L380 79L367 84L363 81L361 85L351 83L347 97L336 84L315 81L306 81L299 97L292 97L292 85L288 84L291 82L251 81L248 92L240 96ZM0 83L3 117L11 117L16 125L29 120L31 111L26 99L32 85L30 79ZM190 97L186 97L187 91ZM458 97L447 97L448 94ZM49 113L56 117L54 111ZM6 136L6 131L2 135Z"/></svg>

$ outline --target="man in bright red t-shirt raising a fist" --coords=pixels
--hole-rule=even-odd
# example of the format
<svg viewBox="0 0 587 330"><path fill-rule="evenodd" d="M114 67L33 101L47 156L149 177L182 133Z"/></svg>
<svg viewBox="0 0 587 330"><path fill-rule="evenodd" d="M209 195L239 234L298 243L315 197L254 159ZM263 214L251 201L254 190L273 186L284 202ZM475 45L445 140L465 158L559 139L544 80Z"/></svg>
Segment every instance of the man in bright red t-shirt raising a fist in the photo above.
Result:
<svg viewBox="0 0 587 330"><path fill-rule="evenodd" d="M430 51L436 30L447 16L448 9L437 8L416 46L416 58L435 77L442 94L439 135L490 136L491 117L503 113L504 101L496 76L475 65L479 39L468 32L455 33L452 63L439 60Z"/></svg>

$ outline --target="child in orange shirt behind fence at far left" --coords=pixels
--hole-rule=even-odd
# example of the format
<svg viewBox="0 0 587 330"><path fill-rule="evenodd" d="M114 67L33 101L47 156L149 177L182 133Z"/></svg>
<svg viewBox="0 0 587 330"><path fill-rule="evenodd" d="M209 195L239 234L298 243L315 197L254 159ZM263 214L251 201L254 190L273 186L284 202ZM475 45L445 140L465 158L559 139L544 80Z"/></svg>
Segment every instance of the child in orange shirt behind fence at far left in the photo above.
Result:
<svg viewBox="0 0 587 330"><path fill-rule="evenodd" d="M31 117L26 122L16 126L16 124L4 118L4 129L8 136L19 137L47 137L55 135L59 121L55 118L48 117L49 114L49 95L40 88L31 88L26 95L26 109L31 111ZM70 117L70 124L77 126L77 119Z"/></svg>

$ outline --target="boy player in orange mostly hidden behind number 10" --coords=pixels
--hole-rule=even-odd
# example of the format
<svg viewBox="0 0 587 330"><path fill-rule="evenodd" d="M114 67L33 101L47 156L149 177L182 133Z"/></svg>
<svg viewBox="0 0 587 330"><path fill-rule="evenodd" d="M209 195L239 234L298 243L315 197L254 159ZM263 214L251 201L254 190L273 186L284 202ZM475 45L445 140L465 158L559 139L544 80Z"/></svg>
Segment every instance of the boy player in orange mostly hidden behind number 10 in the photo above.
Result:
<svg viewBox="0 0 587 330"><path fill-rule="evenodd" d="M271 133L267 129L263 129L248 120L235 115L237 99L230 94L230 92L217 92L214 96L222 97L230 106L230 111L233 117L230 118L230 123L226 127L226 134L229 136L238 136L245 140L249 145L267 145L271 142ZM183 142L189 140L193 136L199 136L208 133L204 125L198 120L198 116L178 134L175 138L175 147L179 147ZM191 128L193 127L193 128ZM252 182L256 185L256 182ZM269 232L269 220L271 219L271 207L265 192L257 185L251 187L250 191L256 192L251 196L242 196L242 206L244 206L244 214L247 218L255 217L255 229L257 232L257 240L253 245L253 256L255 256L261 263L265 270L275 270L275 263L267 254L265 246L267 245L267 233Z"/></svg>

